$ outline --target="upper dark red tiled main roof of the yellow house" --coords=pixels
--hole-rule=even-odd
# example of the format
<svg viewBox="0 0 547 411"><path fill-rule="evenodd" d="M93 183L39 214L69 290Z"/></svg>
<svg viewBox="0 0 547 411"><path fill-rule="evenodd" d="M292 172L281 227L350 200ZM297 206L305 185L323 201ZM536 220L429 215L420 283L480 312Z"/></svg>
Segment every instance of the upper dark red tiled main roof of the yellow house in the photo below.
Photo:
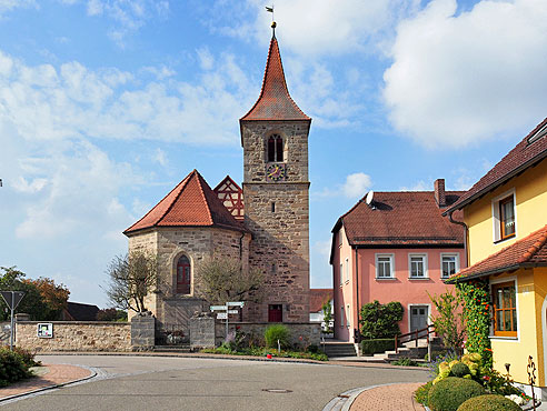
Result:
<svg viewBox="0 0 547 411"><path fill-rule="evenodd" d="M528 143L528 139L547 124L547 118L530 131L511 151L488 171L475 186L454 203L446 213L460 210L463 207L480 198L488 191L515 177L524 169L534 166L547 157L547 137Z"/></svg>

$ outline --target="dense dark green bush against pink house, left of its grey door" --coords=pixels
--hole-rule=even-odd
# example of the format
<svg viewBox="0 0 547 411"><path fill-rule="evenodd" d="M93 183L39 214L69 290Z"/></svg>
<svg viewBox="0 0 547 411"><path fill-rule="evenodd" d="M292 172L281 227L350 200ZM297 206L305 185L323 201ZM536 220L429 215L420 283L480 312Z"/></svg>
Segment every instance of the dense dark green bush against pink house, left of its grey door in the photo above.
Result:
<svg viewBox="0 0 547 411"><path fill-rule="evenodd" d="M402 305L391 301L380 304L378 300L361 307L361 334L366 339L394 338L400 334L399 321L402 320Z"/></svg>

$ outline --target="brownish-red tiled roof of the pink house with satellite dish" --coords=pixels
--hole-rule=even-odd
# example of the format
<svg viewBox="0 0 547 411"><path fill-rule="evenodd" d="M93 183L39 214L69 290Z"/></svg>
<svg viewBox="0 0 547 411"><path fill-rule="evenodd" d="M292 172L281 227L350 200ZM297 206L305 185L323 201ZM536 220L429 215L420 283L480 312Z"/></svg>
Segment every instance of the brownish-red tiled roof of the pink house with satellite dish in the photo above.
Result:
<svg viewBox="0 0 547 411"><path fill-rule="evenodd" d="M461 194L446 191L447 203ZM375 192L371 206L359 200L332 232L344 224L349 243L359 247L464 247L464 228L441 215L432 191ZM461 221L460 212L454 217Z"/></svg>

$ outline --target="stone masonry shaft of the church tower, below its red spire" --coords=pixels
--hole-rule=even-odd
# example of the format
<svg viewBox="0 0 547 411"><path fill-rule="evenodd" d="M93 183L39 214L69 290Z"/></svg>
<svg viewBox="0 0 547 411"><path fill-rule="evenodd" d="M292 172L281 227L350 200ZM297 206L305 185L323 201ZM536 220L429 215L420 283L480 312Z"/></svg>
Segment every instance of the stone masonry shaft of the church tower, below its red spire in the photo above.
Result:
<svg viewBox="0 0 547 411"><path fill-rule="evenodd" d="M267 182L267 141L284 138L287 177ZM284 322L309 320L308 122L242 122L245 224L252 232L249 263L265 272L266 298L248 304L250 321L281 304ZM275 203L275 208L272 208Z"/></svg>

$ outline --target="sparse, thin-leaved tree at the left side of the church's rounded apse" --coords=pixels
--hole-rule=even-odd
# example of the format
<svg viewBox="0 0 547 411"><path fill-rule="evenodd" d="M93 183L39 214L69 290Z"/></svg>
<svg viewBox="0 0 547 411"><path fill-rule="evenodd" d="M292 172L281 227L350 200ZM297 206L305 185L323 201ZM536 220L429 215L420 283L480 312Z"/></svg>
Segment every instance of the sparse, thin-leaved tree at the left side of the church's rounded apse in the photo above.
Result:
<svg viewBox="0 0 547 411"><path fill-rule="evenodd" d="M115 308L146 312L146 297L158 289L158 258L156 254L133 251L117 255L107 274L107 295Z"/></svg>

